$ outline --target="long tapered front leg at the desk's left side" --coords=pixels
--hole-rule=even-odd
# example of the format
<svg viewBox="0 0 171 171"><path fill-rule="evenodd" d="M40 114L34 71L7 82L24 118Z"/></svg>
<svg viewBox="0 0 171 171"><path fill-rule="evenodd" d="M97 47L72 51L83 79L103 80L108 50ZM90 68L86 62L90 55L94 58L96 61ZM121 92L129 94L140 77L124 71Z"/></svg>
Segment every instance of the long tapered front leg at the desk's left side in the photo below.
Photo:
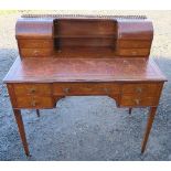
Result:
<svg viewBox="0 0 171 171"><path fill-rule="evenodd" d="M22 145L23 145L25 154L30 156L29 147L28 147L28 142L26 142L26 137L25 137L24 125L23 125L22 116L21 116L21 110L13 109L13 113L14 113L14 117L15 117L15 120L17 120L17 124L18 124L18 128L19 128L19 132L20 132L20 138L22 140Z"/></svg>

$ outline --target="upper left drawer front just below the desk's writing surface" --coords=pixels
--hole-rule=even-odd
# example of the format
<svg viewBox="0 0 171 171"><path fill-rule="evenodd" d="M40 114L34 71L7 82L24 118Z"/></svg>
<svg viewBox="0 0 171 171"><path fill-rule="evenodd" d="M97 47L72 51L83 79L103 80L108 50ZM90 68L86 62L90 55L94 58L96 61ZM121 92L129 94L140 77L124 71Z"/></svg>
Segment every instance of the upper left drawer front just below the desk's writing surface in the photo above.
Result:
<svg viewBox="0 0 171 171"><path fill-rule="evenodd" d="M23 95L51 95L50 84L14 84L14 93L17 96Z"/></svg>

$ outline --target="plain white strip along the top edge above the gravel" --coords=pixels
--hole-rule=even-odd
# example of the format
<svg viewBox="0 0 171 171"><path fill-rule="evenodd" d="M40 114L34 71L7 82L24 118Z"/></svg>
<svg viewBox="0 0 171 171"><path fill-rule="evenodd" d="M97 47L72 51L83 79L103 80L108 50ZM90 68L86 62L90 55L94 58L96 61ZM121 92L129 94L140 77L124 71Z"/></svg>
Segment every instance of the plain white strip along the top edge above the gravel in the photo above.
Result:
<svg viewBox="0 0 171 171"><path fill-rule="evenodd" d="M0 9L15 10L170 10L171 0L0 0Z"/></svg>

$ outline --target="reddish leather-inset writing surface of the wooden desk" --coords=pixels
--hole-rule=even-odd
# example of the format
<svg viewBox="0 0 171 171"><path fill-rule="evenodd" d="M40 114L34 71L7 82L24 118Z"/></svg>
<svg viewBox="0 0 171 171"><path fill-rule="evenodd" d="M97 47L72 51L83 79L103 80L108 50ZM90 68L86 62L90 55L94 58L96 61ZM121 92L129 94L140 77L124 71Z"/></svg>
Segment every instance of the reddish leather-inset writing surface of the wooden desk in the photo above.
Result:
<svg viewBox="0 0 171 171"><path fill-rule="evenodd" d="M17 58L4 83L164 82L152 58Z"/></svg>

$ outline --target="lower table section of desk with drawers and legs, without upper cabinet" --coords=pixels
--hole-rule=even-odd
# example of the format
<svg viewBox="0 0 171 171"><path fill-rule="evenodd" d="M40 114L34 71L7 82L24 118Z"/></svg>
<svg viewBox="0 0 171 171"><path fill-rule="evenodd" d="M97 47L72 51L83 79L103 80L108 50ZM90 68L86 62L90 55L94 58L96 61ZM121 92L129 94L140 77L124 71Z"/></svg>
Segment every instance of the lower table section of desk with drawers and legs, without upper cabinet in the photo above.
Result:
<svg viewBox="0 0 171 171"><path fill-rule="evenodd" d="M118 107L150 107L142 141L145 151L164 76L145 58L23 58L4 78L25 153L21 108L54 108L65 96L107 95Z"/></svg>

